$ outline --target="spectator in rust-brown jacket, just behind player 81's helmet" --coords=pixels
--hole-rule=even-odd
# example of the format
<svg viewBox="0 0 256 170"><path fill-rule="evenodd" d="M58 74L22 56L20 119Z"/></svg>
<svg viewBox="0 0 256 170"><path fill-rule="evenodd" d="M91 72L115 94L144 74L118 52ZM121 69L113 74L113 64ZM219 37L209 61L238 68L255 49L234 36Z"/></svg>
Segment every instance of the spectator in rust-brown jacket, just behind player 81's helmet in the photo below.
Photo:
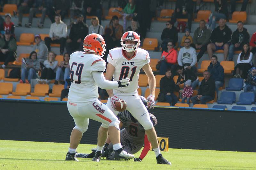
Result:
<svg viewBox="0 0 256 170"><path fill-rule="evenodd" d="M111 37L115 43L115 46L120 47L120 39L122 37L122 33L124 32L124 28L122 25L119 24L118 17L114 15L110 20L109 25L106 25L105 28L111 29Z"/></svg>

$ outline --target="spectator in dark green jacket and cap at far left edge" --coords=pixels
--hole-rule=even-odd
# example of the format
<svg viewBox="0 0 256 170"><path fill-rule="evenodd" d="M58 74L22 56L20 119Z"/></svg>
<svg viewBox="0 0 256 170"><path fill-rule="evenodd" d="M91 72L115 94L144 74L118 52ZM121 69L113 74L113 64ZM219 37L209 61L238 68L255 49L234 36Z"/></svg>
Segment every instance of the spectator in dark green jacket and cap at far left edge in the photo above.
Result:
<svg viewBox="0 0 256 170"><path fill-rule="evenodd" d="M0 61L4 61L2 68L8 65L8 62L14 61L17 56L17 44L14 37L11 36L11 31L4 32L4 38L0 38Z"/></svg>

